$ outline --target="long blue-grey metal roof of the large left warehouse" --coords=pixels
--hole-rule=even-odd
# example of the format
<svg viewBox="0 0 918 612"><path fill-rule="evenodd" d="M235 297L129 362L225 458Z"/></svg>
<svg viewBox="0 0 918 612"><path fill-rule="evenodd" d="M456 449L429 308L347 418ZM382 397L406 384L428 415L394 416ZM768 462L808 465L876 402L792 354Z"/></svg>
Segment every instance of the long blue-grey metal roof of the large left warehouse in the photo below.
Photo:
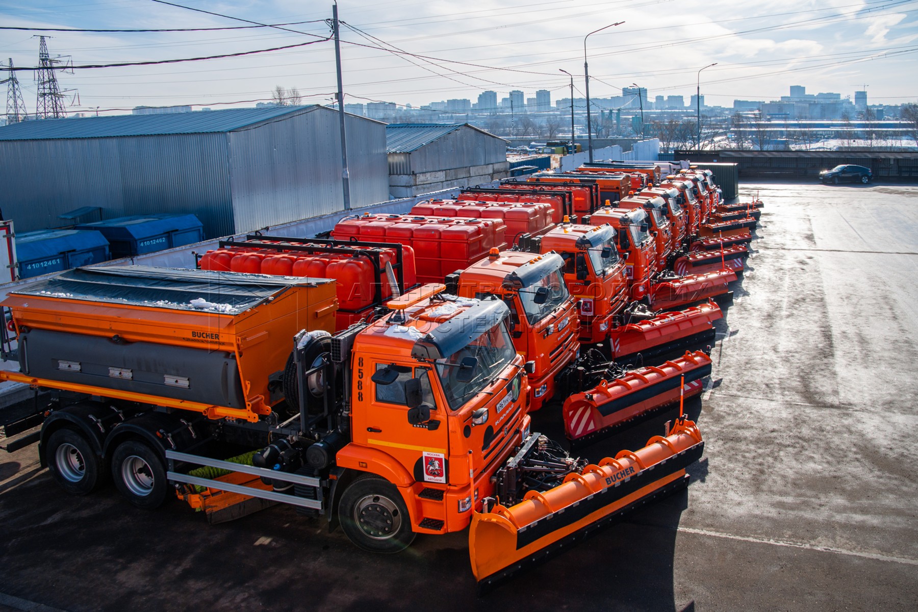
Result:
<svg viewBox="0 0 918 612"><path fill-rule="evenodd" d="M97 139L118 136L204 134L250 128L323 106L266 106L225 110L20 121L0 128L0 140Z"/></svg>

